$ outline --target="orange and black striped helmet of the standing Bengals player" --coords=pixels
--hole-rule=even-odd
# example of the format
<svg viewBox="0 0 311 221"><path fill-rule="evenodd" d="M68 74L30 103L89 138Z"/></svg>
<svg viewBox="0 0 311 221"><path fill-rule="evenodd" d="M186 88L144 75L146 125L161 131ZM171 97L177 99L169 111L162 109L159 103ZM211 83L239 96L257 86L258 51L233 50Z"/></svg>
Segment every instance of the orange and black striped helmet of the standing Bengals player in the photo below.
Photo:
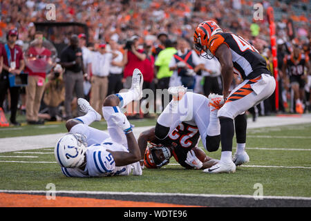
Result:
<svg viewBox="0 0 311 221"><path fill-rule="evenodd" d="M203 21L194 30L194 45L202 57L211 59L209 57L211 55L209 52L209 39L218 32L223 32L223 30L215 21ZM202 51L205 52L205 55L202 55Z"/></svg>

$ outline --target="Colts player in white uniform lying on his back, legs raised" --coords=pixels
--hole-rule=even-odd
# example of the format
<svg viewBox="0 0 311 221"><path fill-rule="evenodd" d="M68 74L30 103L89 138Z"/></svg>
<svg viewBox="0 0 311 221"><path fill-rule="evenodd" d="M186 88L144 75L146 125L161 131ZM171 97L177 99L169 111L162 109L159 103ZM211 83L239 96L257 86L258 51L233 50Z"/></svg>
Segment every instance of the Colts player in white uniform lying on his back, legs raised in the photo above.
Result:
<svg viewBox="0 0 311 221"><path fill-rule="evenodd" d="M133 72L131 89L126 93L109 95L102 113L108 132L88 126L102 116L83 98L78 105L86 115L66 122L68 134L55 146L55 158L68 177L102 177L112 175L142 175L140 148L132 133L131 124L120 108L142 97L143 77Z"/></svg>

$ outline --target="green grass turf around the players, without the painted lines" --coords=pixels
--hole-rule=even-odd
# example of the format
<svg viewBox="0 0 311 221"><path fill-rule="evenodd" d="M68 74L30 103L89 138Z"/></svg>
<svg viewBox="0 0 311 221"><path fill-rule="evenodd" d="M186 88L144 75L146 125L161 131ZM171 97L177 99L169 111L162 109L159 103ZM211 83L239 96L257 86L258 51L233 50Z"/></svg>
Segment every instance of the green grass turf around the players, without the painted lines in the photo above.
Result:
<svg viewBox="0 0 311 221"><path fill-rule="evenodd" d="M248 147L306 148L311 149L311 124L279 126L277 128L249 129L247 135L272 136L247 137ZM300 138L276 138L299 136ZM302 137L302 138L301 138ZM303 138L304 137L304 138ZM199 146L202 146L200 144ZM235 144L234 144L235 146ZM26 154L26 152L48 154ZM0 160L55 162L53 148L0 153L1 156L35 155L37 158L0 157ZM311 167L311 151L279 151L249 149L248 165ZM220 150L208 153L219 158ZM171 158L170 164L176 164ZM69 178L62 175L58 164L30 164L0 162L0 189L42 190L53 183L57 191L133 191L159 193L206 193L253 195L254 184L263 184L264 195L311 197L311 169L237 167L233 174L207 174L202 171L182 169L167 165L162 169L144 169L142 176Z"/></svg>

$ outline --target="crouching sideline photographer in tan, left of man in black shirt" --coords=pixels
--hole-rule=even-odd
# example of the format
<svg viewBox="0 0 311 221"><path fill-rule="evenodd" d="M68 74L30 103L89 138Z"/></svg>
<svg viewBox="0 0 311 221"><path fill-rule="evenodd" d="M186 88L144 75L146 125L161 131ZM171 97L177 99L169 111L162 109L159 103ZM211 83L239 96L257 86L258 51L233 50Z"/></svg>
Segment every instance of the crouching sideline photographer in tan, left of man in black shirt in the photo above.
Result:
<svg viewBox="0 0 311 221"><path fill-rule="evenodd" d="M57 64L47 78L48 82L44 88L44 104L48 107L48 116L44 118L50 121L57 121L59 105L64 102L65 99L62 66Z"/></svg>

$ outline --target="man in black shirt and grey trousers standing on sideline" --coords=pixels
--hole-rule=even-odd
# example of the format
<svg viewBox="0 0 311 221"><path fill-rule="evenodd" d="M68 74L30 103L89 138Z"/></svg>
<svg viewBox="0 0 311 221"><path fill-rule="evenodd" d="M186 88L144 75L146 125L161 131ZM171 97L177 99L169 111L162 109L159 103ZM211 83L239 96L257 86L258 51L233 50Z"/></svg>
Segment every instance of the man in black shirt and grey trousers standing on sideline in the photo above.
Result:
<svg viewBox="0 0 311 221"><path fill-rule="evenodd" d="M64 73L65 81L65 119L73 118L71 110L71 102L73 100L73 92L77 98L84 97L84 65L82 58L82 49L79 48L79 38L77 35L71 35L70 45L64 48L61 53L60 64L66 69ZM87 74L86 74L87 75ZM81 111L77 115L83 115Z"/></svg>

